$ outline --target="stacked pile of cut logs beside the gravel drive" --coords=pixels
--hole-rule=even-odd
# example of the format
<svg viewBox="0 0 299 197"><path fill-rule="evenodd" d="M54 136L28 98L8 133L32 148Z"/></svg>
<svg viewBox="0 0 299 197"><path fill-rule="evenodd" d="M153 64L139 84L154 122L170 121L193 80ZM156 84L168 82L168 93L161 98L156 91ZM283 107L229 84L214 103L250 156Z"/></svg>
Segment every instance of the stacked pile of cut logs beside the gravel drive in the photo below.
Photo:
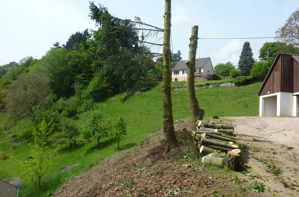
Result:
<svg viewBox="0 0 299 197"><path fill-rule="evenodd" d="M235 126L232 122L198 121L197 131L192 131L192 137L197 141L199 154L203 155L202 163L222 168L227 166L236 171L242 169L241 150L236 143L237 135L234 134ZM216 154L215 150L227 152L228 155L224 158Z"/></svg>

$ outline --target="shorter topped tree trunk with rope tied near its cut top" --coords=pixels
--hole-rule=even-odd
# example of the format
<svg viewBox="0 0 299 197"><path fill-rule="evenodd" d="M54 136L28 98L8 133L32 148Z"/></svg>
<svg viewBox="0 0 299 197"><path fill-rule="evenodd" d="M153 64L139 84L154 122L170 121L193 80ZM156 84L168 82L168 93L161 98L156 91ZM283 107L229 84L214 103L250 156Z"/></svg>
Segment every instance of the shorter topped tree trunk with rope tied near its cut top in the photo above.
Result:
<svg viewBox="0 0 299 197"><path fill-rule="evenodd" d="M191 113L191 129L196 130L197 120L200 120L200 112L198 101L195 95L194 88L194 70L195 70L195 57L197 49L197 35L198 26L193 26L191 30L190 44L189 44L189 57L185 62L187 65L187 95Z"/></svg>

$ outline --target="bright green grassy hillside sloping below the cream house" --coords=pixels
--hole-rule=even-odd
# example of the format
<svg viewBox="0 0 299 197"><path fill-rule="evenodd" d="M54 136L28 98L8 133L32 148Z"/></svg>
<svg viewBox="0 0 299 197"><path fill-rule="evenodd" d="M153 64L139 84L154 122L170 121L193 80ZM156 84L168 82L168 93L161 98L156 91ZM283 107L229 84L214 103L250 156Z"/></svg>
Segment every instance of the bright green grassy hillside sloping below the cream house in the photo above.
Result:
<svg viewBox="0 0 299 197"><path fill-rule="evenodd" d="M242 87L216 87L210 89L196 90L196 96L202 109L205 109L205 116L217 115L219 107L219 116L257 116L259 108L259 99L257 91L262 83L254 83ZM123 95L116 95L109 98L105 102L98 103L98 110L107 115L122 116L126 121L127 135L120 139L122 149L128 149L135 146L143 140L149 133L155 132L162 127L162 91L161 83L156 83L155 87L150 91L142 94L137 94L124 104L119 102L119 98ZM180 96L181 93L181 96ZM180 119L189 116L183 106L182 100L188 109L188 100L186 91L172 91L173 100L173 116L174 119ZM0 124L3 120L0 119ZM19 161L25 161L26 152L29 151L28 143L32 142L32 128L28 121L19 123L9 131L0 131L0 153L6 152L10 154L7 160L0 160L0 178L7 178L8 181L13 181L20 177L21 180L28 178L25 183L30 183L30 176L19 172ZM16 138L10 137L15 133ZM65 181L65 178L77 175L88 170L90 167L97 164L101 159L115 153L112 143L115 143L113 138L105 138L100 141L101 148L97 148L97 142L88 143L84 146L77 146L72 150L65 148L57 152L53 159L57 161L57 165L48 170L49 175L42 179L42 187L47 192L51 193ZM13 144L20 148L11 150L9 147ZM79 166L71 170L60 173L64 167L80 163ZM50 174L51 173L51 174ZM31 185L32 186L32 185ZM27 189L26 189L27 188ZM33 195L28 193L27 186L20 196ZM38 195L37 193L34 194Z"/></svg>

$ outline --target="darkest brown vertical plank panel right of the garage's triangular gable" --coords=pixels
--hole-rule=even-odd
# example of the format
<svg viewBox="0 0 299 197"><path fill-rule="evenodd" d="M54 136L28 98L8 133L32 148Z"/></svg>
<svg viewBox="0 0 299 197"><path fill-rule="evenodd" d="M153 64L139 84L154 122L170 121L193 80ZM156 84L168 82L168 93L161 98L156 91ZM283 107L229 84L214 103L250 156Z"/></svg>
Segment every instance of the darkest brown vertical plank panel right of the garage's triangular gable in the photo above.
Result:
<svg viewBox="0 0 299 197"><path fill-rule="evenodd" d="M280 91L281 92L293 92L293 58L292 55L281 54L281 80Z"/></svg>

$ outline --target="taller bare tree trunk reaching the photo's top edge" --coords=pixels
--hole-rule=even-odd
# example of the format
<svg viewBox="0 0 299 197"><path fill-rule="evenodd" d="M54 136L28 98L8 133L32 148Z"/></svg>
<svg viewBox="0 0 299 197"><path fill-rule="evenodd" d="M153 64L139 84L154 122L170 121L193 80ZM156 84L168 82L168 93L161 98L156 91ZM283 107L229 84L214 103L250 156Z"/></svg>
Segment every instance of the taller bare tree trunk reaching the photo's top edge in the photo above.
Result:
<svg viewBox="0 0 299 197"><path fill-rule="evenodd" d="M165 0L164 40L163 40L163 131L166 140L166 152L178 145L173 127L171 102L171 71L170 71L170 11L171 0Z"/></svg>

